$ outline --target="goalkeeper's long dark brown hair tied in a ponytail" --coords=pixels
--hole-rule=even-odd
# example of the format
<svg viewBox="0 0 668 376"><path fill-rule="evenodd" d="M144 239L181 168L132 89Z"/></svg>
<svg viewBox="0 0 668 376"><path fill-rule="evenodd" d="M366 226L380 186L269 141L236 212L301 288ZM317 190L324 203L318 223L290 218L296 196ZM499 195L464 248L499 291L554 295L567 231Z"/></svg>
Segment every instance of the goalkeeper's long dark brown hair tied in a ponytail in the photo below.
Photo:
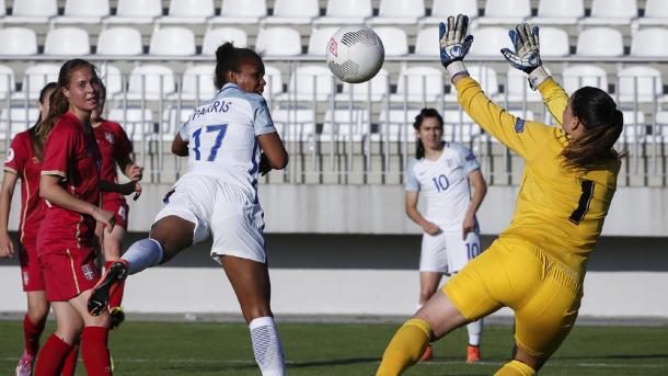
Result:
<svg viewBox="0 0 668 376"><path fill-rule="evenodd" d="M625 150L613 148L622 134L624 116L608 93L598 88L580 88L571 96L571 109L586 132L562 151L566 170L591 170L626 157Z"/></svg>

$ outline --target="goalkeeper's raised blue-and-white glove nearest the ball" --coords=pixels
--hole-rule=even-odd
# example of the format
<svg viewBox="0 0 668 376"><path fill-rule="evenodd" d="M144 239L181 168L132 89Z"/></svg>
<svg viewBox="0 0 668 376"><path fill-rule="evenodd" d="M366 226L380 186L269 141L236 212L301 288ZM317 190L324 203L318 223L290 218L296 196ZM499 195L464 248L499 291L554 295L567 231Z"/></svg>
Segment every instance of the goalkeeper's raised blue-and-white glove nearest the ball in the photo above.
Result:
<svg viewBox="0 0 668 376"><path fill-rule="evenodd" d="M438 24L438 39L440 45L440 64L448 69L454 61L461 61L469 53L473 43L473 35L467 35L469 30L469 16L458 14L457 19L450 15L448 24ZM448 69L450 71L450 69ZM450 72L452 73L452 72Z"/></svg>

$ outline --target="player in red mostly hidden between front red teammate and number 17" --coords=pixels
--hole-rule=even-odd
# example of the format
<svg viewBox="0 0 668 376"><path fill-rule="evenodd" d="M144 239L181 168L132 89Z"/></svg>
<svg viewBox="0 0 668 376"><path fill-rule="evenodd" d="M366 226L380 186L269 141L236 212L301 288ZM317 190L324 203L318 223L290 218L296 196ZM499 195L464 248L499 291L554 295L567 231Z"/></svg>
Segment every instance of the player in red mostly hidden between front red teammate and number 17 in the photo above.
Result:
<svg viewBox="0 0 668 376"><path fill-rule="evenodd" d="M118 182L116 166L131 181L141 180L142 168L135 164L131 158L133 143L118 123L102 118L104 102L106 100L106 89L100 83L100 100L97 109L91 113L91 126L97 140L97 147L102 156L102 167L100 179L107 182ZM104 233L100 224L95 233L101 240L102 252L104 254L104 267L108 267L114 261L120 259L120 243L127 230L129 208L125 196L118 192L102 193L102 208L114 213L116 225L111 233ZM123 300L123 284L114 292L110 298L110 314L112 316L112 328L116 328L125 319L120 301Z"/></svg>

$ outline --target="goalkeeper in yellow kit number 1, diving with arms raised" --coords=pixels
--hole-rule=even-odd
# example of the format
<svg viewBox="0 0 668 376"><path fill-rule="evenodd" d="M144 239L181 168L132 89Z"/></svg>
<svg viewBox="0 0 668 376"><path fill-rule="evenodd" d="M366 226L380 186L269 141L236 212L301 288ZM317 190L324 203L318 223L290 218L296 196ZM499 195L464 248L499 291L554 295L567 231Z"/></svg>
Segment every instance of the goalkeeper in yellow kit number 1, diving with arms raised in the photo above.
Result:
<svg viewBox="0 0 668 376"><path fill-rule="evenodd" d="M622 113L602 90L571 98L542 67L537 26L509 32L508 62L528 73L558 124L512 116L469 77L473 36L465 15L440 24L440 58L462 109L526 161L512 220L498 239L435 294L388 345L377 375L399 375L430 341L502 307L515 310L514 358L496 375L530 376L564 341L577 318L587 259L603 227L623 152L613 149Z"/></svg>

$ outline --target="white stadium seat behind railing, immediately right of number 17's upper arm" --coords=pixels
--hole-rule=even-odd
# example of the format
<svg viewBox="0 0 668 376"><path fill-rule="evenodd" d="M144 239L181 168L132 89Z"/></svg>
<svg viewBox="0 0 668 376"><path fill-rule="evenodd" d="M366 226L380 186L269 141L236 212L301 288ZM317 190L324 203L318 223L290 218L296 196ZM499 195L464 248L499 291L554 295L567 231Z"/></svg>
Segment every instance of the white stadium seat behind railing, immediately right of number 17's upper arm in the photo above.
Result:
<svg viewBox="0 0 668 376"><path fill-rule="evenodd" d="M272 110L276 132L285 141L311 141L315 136L315 111L307 106L279 106Z"/></svg>

